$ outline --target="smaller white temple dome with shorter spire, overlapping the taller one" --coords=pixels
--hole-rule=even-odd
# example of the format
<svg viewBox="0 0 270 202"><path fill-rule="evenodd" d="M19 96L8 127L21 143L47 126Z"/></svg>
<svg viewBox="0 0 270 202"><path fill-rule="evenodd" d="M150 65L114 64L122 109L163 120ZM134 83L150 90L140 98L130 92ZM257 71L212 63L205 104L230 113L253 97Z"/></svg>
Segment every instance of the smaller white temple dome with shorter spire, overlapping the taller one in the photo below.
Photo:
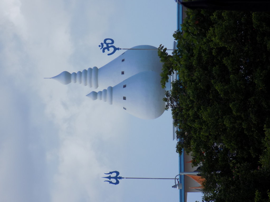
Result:
<svg viewBox="0 0 270 202"><path fill-rule="evenodd" d="M92 91L87 97L103 100L140 119L156 119L165 110L164 89L157 72L140 72L114 87Z"/></svg>

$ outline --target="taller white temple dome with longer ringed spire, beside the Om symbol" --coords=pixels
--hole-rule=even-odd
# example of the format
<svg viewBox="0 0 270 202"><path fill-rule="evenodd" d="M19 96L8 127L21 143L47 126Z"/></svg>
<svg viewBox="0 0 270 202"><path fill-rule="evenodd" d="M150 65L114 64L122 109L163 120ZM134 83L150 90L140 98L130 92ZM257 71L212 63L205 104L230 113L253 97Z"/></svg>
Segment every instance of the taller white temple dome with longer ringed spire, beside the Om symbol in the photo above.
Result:
<svg viewBox="0 0 270 202"><path fill-rule="evenodd" d="M115 58L103 67L88 68L82 72L67 71L52 77L62 84L83 83L90 88L107 88L115 86L125 79L143 71L154 71L160 74L162 63L157 54L157 48L149 45L135 46L137 49L156 49L156 50L127 50L119 57Z"/></svg>

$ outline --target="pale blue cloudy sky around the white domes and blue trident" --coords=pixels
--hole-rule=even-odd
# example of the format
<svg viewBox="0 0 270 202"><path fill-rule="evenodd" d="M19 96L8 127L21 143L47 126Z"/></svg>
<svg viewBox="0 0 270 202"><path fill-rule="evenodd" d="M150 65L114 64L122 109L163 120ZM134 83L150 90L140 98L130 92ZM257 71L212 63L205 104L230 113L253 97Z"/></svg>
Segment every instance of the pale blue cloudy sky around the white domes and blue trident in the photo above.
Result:
<svg viewBox="0 0 270 202"><path fill-rule="evenodd" d="M173 48L173 0L2 0L0 2L0 201L179 201L171 113L141 120L87 98L62 71L102 67L98 45Z"/></svg>

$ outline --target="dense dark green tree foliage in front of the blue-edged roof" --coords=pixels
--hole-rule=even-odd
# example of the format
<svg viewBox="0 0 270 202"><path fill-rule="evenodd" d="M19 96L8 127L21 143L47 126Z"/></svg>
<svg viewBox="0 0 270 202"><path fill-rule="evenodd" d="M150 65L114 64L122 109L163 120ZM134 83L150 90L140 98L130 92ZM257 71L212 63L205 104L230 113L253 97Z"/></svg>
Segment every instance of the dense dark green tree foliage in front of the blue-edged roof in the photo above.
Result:
<svg viewBox="0 0 270 202"><path fill-rule="evenodd" d="M202 165L205 201L270 201L270 13L188 10L160 46L177 152ZM221 171L217 173L216 171Z"/></svg>

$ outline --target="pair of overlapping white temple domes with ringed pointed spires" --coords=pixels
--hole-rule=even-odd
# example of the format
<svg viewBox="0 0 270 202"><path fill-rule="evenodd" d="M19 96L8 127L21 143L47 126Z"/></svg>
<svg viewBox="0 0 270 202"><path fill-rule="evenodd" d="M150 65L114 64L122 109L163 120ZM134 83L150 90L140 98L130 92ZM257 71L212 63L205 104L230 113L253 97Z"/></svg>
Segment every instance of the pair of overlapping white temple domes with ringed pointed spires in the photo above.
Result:
<svg viewBox="0 0 270 202"><path fill-rule="evenodd" d="M160 84L162 63L156 47L141 45L133 48L140 50L127 50L100 68L77 73L63 71L52 79L64 85L77 82L89 88L101 88L102 91L92 91L86 96L103 100L140 119L156 119L165 110L165 89Z"/></svg>

